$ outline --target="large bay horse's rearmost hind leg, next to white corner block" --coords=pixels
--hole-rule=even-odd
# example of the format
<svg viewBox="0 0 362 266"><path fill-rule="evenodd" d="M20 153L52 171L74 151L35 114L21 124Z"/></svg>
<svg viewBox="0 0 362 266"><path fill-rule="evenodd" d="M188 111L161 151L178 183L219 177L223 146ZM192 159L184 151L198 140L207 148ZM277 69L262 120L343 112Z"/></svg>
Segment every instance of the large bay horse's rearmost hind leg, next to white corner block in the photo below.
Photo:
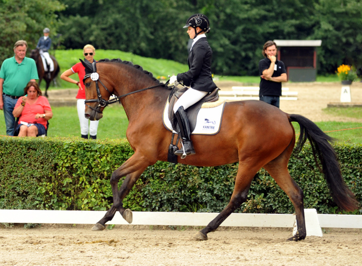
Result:
<svg viewBox="0 0 362 266"><path fill-rule="evenodd" d="M269 172L272 178L276 181L281 189L285 191L293 203L296 219L297 219L297 233L289 238L290 241L298 241L305 239L307 233L305 228L304 218L304 203L303 191L294 182L292 176L288 171L289 156L280 155L268 164L264 165L264 169Z"/></svg>

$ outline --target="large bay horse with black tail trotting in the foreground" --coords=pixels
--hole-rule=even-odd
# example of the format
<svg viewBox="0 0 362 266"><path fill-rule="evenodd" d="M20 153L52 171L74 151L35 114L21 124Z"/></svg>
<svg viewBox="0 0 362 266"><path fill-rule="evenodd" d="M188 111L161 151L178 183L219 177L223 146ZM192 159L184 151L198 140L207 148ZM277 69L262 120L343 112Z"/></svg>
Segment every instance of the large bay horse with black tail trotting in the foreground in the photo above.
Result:
<svg viewBox="0 0 362 266"><path fill-rule="evenodd" d="M90 120L103 117L102 111L117 100L122 103L129 119L127 139L134 154L111 175L113 205L104 217L92 228L105 229L116 211L132 223L132 211L123 207L122 200L129 194L142 172L158 160L168 161L168 150L172 132L163 124L163 111L170 90L164 83L140 66L120 59L100 60L90 63L81 60L86 69L83 80L86 87L85 116ZM114 94L115 100L109 100ZM314 159L321 168L330 187L333 200L344 210L358 208L358 201L346 186L340 171L336 153L327 136L309 119L287 114L262 101L227 102L224 106L221 128L216 135L192 135L195 155L186 156L178 163L195 166L220 166L238 162L234 190L227 206L208 226L196 233L194 238L207 240L207 234L215 231L220 224L243 202L260 168L269 172L281 189L292 201L297 220L297 233L290 241L306 237L303 191L288 171L289 158L294 149L296 137L291 122L300 125L297 149L301 150L309 140ZM126 176L118 191L118 181Z"/></svg>

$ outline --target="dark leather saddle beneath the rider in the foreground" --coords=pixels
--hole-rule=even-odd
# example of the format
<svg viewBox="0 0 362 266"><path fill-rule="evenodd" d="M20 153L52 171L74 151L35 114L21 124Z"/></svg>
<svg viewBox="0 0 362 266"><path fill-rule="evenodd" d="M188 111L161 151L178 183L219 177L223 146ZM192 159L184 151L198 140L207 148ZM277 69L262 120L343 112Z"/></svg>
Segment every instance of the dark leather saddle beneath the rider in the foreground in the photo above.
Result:
<svg viewBox="0 0 362 266"><path fill-rule="evenodd" d="M176 118L175 118L174 105L177 102L177 100L181 97L181 95L183 95L187 90L188 90L188 87L178 88L175 86L172 89L170 96L169 96L170 105L169 105L168 115L169 115L169 119L171 121L172 127L177 128L177 130L179 130L179 128L178 128ZM194 105L191 105L189 108L187 108L185 110L191 132L195 129L197 113L201 109L201 106L204 103L211 103L211 102L218 101L219 100L219 93L218 93L219 90L220 89L218 87L215 88L214 91L207 94L203 99L201 99Z"/></svg>

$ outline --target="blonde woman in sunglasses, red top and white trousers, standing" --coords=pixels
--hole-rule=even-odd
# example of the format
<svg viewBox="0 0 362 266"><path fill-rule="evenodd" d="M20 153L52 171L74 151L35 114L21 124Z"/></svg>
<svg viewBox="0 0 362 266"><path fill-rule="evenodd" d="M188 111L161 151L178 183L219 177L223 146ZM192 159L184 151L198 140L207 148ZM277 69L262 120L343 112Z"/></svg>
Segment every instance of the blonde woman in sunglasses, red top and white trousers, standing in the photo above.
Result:
<svg viewBox="0 0 362 266"><path fill-rule="evenodd" d="M96 54L96 49L92 45L86 45L83 48L84 57L91 63L93 63L94 61L95 54ZM74 73L78 74L79 81L76 81L69 77ZM81 62L79 62L76 63L74 66L72 66L70 69L65 70L61 74L60 78L70 83L77 84L79 90L75 98L78 99L76 108L78 111L79 123L81 124L81 135L82 138L88 139L88 133L89 133L90 138L95 140L97 139L97 129L99 121L90 121L85 116L86 105L84 101L86 100L86 92L85 92L85 86L83 84L83 78L85 74L86 71L84 69L84 66L82 65Z"/></svg>

